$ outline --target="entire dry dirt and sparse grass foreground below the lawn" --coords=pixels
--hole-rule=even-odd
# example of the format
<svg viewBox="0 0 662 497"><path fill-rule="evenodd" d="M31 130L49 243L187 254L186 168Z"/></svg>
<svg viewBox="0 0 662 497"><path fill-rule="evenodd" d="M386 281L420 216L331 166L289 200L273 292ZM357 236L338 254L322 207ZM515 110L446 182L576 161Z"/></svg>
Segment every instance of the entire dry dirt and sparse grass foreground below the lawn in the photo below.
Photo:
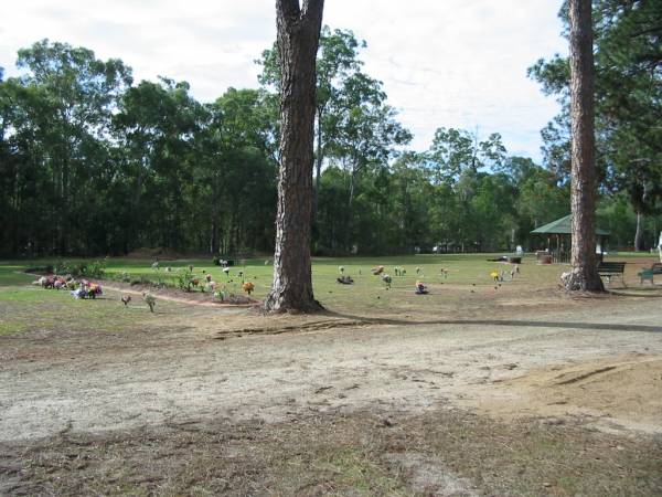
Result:
<svg viewBox="0 0 662 497"><path fill-rule="evenodd" d="M12 295L0 494L662 493L656 299L265 316Z"/></svg>

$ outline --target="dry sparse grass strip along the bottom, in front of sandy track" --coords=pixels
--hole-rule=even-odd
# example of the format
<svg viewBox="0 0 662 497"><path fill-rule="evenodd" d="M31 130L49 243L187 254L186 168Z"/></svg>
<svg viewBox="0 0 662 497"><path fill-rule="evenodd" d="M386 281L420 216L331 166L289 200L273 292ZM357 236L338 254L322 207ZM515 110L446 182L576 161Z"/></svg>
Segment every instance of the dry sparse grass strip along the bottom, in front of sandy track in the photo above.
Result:
<svg viewBox="0 0 662 497"><path fill-rule="evenodd" d="M81 495L660 495L660 441L461 411L186 422L0 444L0 491Z"/></svg>

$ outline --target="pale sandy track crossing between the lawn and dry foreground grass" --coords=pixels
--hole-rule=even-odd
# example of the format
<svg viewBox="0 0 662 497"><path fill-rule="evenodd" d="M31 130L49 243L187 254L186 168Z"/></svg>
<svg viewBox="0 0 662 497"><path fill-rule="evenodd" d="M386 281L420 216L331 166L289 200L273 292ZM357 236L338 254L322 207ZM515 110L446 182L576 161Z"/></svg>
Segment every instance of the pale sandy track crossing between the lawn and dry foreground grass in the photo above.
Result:
<svg viewBox="0 0 662 497"><path fill-rule="evenodd" d="M135 334L2 338L0 442L301 413L580 417L662 433L662 307L597 299L426 324L195 307ZM510 317L509 317L510 316Z"/></svg>

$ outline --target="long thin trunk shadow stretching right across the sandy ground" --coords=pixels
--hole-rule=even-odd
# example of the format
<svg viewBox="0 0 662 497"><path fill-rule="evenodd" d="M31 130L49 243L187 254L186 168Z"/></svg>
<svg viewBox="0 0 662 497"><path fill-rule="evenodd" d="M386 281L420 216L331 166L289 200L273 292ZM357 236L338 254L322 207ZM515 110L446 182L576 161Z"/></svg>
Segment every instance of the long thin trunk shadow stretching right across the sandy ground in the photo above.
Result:
<svg viewBox="0 0 662 497"><path fill-rule="evenodd" d="M642 331L662 334L662 326L653 325L617 325L611 322L573 322L573 321L532 321L516 319L433 319L426 321L412 321L405 319L375 318L355 316L350 314L327 310L324 314L343 319L353 319L370 325L467 325L467 326L511 326L523 328L565 328L565 329L592 329L606 331Z"/></svg>

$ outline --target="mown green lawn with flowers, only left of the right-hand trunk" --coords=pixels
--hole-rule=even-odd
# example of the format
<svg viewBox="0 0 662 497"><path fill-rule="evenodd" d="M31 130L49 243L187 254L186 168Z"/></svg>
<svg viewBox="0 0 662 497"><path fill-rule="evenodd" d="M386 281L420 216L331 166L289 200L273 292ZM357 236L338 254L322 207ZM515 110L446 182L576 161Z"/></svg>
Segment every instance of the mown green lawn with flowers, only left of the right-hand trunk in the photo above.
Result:
<svg viewBox="0 0 662 497"><path fill-rule="evenodd" d="M447 305L479 305L481 299L490 303L498 295L519 293L528 289L555 288L558 276L566 266L541 266L533 256L527 256L520 265L521 273L511 282L512 265L489 262L499 254L449 254L449 255L413 255L384 257L323 257L314 258L312 266L314 295L320 303L342 313L386 313L397 314L408 310L425 310ZM73 260L81 262L84 260ZM94 260L87 260L89 262ZM28 266L45 266L55 260L24 261L21 263L0 263L0 285L21 285L29 283L19 272ZM211 274L213 281L227 290L241 294L242 282L249 281L255 285L253 296L264 298L269 292L273 278L271 260L245 260L225 274L220 266L209 260L178 260L159 262L159 269L151 267L152 260L107 258L105 279L114 281L124 273L131 279L148 279L154 283L177 285L177 274L180 269L193 266L193 273L203 278ZM391 289L380 276L374 276L371 269L383 265L385 273L392 276ZM341 285L337 278L344 274L354 279L353 285ZM395 267L403 269L403 276L395 275ZM442 269L446 272L444 275ZM492 272L503 271L505 281L501 286L494 284L490 276ZM239 272L243 274L239 275ZM415 295L416 281L421 281L429 287L429 295ZM495 288L496 286L496 288ZM29 300L33 294L23 297ZM7 295L11 298L10 295ZM2 298L2 297L0 297ZM489 304L488 304L489 307Z"/></svg>

